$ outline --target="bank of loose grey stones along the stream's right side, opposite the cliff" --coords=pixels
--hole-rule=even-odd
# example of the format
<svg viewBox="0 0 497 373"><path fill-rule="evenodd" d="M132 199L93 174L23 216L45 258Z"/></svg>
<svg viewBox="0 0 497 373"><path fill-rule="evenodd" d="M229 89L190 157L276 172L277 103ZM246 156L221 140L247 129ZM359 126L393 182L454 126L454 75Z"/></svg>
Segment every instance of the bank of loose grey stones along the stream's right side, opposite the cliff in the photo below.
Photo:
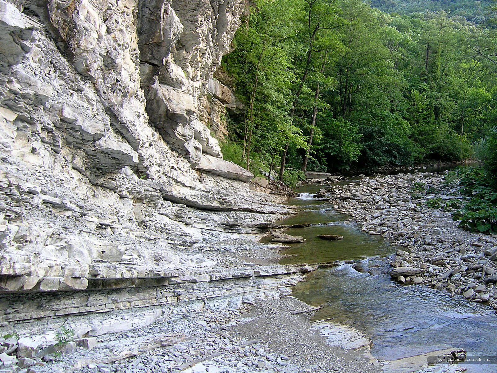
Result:
<svg viewBox="0 0 497 373"><path fill-rule="evenodd" d="M497 309L497 237L457 227L449 210L462 196L444 174L363 177L326 195L364 232L399 246L390 261L394 280L446 289Z"/></svg>

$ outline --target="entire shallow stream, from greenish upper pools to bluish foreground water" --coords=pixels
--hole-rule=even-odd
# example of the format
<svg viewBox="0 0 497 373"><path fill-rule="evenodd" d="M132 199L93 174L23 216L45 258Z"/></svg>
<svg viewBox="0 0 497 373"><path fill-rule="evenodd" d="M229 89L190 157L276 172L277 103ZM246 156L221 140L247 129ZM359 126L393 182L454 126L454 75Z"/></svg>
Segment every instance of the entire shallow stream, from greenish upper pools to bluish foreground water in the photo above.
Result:
<svg viewBox="0 0 497 373"><path fill-rule="evenodd" d="M322 186L309 185L297 190L299 197L290 203L299 214L280 221L310 227L288 229L291 235L306 238L285 250L282 264L323 263L355 260L369 273L357 272L351 264L318 270L298 283L293 295L313 306L324 305L313 319L331 318L352 325L373 341L375 358L395 360L445 348L464 348L470 356L497 355L497 315L485 305L470 303L462 296L428 288L402 285L385 274L397 247L381 236L370 236L332 206L313 198ZM326 241L319 234L344 236ZM376 259L375 259L376 258ZM355 268L357 264L354 265ZM361 271L363 272L363 271ZM497 365L464 365L470 373L497 372Z"/></svg>

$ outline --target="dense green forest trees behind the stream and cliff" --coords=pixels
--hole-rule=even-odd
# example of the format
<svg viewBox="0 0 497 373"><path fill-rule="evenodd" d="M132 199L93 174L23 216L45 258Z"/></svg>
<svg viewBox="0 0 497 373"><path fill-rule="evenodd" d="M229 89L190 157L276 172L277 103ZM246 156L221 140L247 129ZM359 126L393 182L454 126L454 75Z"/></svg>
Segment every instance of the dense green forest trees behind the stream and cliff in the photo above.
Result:
<svg viewBox="0 0 497 373"><path fill-rule="evenodd" d="M225 158L292 184L297 170L463 160L476 143L495 157L496 22L471 3L373 1L405 13L388 14L361 0L256 1L222 61L246 108L229 118ZM480 7L481 25L461 16Z"/></svg>

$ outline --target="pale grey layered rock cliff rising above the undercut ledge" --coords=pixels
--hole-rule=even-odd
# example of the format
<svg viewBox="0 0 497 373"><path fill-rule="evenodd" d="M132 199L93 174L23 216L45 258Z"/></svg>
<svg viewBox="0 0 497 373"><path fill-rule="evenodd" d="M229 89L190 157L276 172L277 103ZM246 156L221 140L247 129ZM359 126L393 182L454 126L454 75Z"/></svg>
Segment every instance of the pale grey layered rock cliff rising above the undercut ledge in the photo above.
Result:
<svg viewBox="0 0 497 373"><path fill-rule="evenodd" d="M211 78L241 11L0 0L1 291L177 283L242 264L234 247L264 250L250 235L286 210L208 127L208 99L232 103Z"/></svg>

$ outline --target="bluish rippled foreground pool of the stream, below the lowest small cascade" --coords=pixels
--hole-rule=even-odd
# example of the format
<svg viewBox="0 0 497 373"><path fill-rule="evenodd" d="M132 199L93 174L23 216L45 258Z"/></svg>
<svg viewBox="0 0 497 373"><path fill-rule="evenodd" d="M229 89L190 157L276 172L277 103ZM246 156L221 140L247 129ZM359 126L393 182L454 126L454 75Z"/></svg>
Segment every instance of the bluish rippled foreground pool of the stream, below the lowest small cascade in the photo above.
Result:
<svg viewBox="0 0 497 373"><path fill-rule="evenodd" d="M314 319L352 325L373 341L375 358L394 360L445 348L470 355L497 355L497 318L488 307L426 285L401 285L388 275L360 274L350 265L318 270L298 283L293 295L326 306ZM465 365L468 372L497 372L496 366Z"/></svg>

